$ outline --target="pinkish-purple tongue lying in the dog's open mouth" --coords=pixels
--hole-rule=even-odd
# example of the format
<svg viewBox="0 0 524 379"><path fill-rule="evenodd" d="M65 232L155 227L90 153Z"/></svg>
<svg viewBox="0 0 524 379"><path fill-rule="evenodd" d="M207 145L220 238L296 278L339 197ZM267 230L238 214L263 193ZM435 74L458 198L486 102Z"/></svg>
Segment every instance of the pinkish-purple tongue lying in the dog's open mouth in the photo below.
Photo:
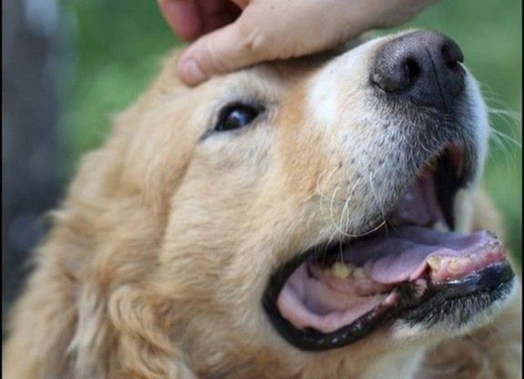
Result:
<svg viewBox="0 0 524 379"><path fill-rule="evenodd" d="M355 242L349 247L347 259L364 266L375 282L391 284L406 281L422 270L430 256L475 256L496 245L499 242L486 230L462 234L405 226L388 230L384 236Z"/></svg>

